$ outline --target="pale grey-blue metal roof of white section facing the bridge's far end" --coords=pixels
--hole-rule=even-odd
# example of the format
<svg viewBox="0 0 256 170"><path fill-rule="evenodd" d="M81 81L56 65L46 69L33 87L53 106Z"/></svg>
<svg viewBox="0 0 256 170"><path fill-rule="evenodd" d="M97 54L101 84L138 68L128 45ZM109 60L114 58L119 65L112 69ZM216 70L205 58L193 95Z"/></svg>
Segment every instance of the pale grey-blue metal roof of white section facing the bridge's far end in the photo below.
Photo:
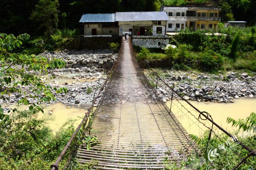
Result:
<svg viewBox="0 0 256 170"><path fill-rule="evenodd" d="M166 12L116 12L116 21L168 21Z"/></svg>

